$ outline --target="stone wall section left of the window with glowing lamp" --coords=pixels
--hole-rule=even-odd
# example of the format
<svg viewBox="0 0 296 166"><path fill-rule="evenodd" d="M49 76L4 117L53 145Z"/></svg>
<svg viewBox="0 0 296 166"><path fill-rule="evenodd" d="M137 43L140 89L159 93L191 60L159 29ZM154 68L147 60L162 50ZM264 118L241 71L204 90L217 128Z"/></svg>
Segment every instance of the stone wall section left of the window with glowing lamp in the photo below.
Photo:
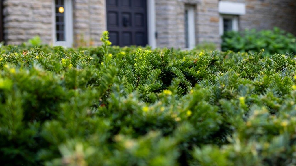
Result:
<svg viewBox="0 0 296 166"><path fill-rule="evenodd" d="M52 0L5 0L4 39L21 44L38 35L52 43Z"/></svg>

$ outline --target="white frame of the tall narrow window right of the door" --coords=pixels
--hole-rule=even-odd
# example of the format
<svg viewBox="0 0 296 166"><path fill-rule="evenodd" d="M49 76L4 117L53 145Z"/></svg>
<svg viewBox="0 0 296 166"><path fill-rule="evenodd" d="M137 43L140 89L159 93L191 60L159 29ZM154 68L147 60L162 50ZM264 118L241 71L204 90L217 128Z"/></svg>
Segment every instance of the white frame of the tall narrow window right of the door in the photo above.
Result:
<svg viewBox="0 0 296 166"><path fill-rule="evenodd" d="M186 39L188 39L188 48L189 49L193 49L195 47L195 19L194 19L194 15L195 15L195 6L192 5L185 5L185 10L187 10L187 14L188 14L188 28L186 29L185 27L185 32L187 31L188 33L188 37ZM185 34L186 35L186 34Z"/></svg>

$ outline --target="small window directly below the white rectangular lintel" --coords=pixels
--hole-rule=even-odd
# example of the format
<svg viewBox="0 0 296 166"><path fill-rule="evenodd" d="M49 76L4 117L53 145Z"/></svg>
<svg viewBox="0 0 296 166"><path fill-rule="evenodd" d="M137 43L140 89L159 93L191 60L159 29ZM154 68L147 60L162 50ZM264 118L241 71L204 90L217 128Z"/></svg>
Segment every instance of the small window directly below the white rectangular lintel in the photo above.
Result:
<svg viewBox="0 0 296 166"><path fill-rule="evenodd" d="M227 31L238 31L238 16L236 15L221 15L220 16L220 35Z"/></svg>

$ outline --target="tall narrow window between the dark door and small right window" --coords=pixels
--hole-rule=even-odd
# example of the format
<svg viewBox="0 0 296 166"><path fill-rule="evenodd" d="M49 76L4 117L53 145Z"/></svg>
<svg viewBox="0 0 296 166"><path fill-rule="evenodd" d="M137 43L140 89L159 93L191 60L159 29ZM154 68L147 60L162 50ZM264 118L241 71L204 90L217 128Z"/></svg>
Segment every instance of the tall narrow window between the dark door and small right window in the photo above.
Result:
<svg viewBox="0 0 296 166"><path fill-rule="evenodd" d="M192 49L195 47L195 20L194 6L185 6L185 47Z"/></svg>

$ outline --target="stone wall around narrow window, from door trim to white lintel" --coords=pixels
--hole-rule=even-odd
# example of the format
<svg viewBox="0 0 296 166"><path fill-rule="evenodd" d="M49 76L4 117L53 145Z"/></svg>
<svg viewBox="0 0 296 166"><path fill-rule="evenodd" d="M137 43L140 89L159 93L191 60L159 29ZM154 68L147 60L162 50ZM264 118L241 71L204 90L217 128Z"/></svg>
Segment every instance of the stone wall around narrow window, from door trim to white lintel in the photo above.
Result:
<svg viewBox="0 0 296 166"><path fill-rule="evenodd" d="M219 47L217 0L155 1L157 46L185 48L185 5L195 6L196 43L214 42Z"/></svg>

